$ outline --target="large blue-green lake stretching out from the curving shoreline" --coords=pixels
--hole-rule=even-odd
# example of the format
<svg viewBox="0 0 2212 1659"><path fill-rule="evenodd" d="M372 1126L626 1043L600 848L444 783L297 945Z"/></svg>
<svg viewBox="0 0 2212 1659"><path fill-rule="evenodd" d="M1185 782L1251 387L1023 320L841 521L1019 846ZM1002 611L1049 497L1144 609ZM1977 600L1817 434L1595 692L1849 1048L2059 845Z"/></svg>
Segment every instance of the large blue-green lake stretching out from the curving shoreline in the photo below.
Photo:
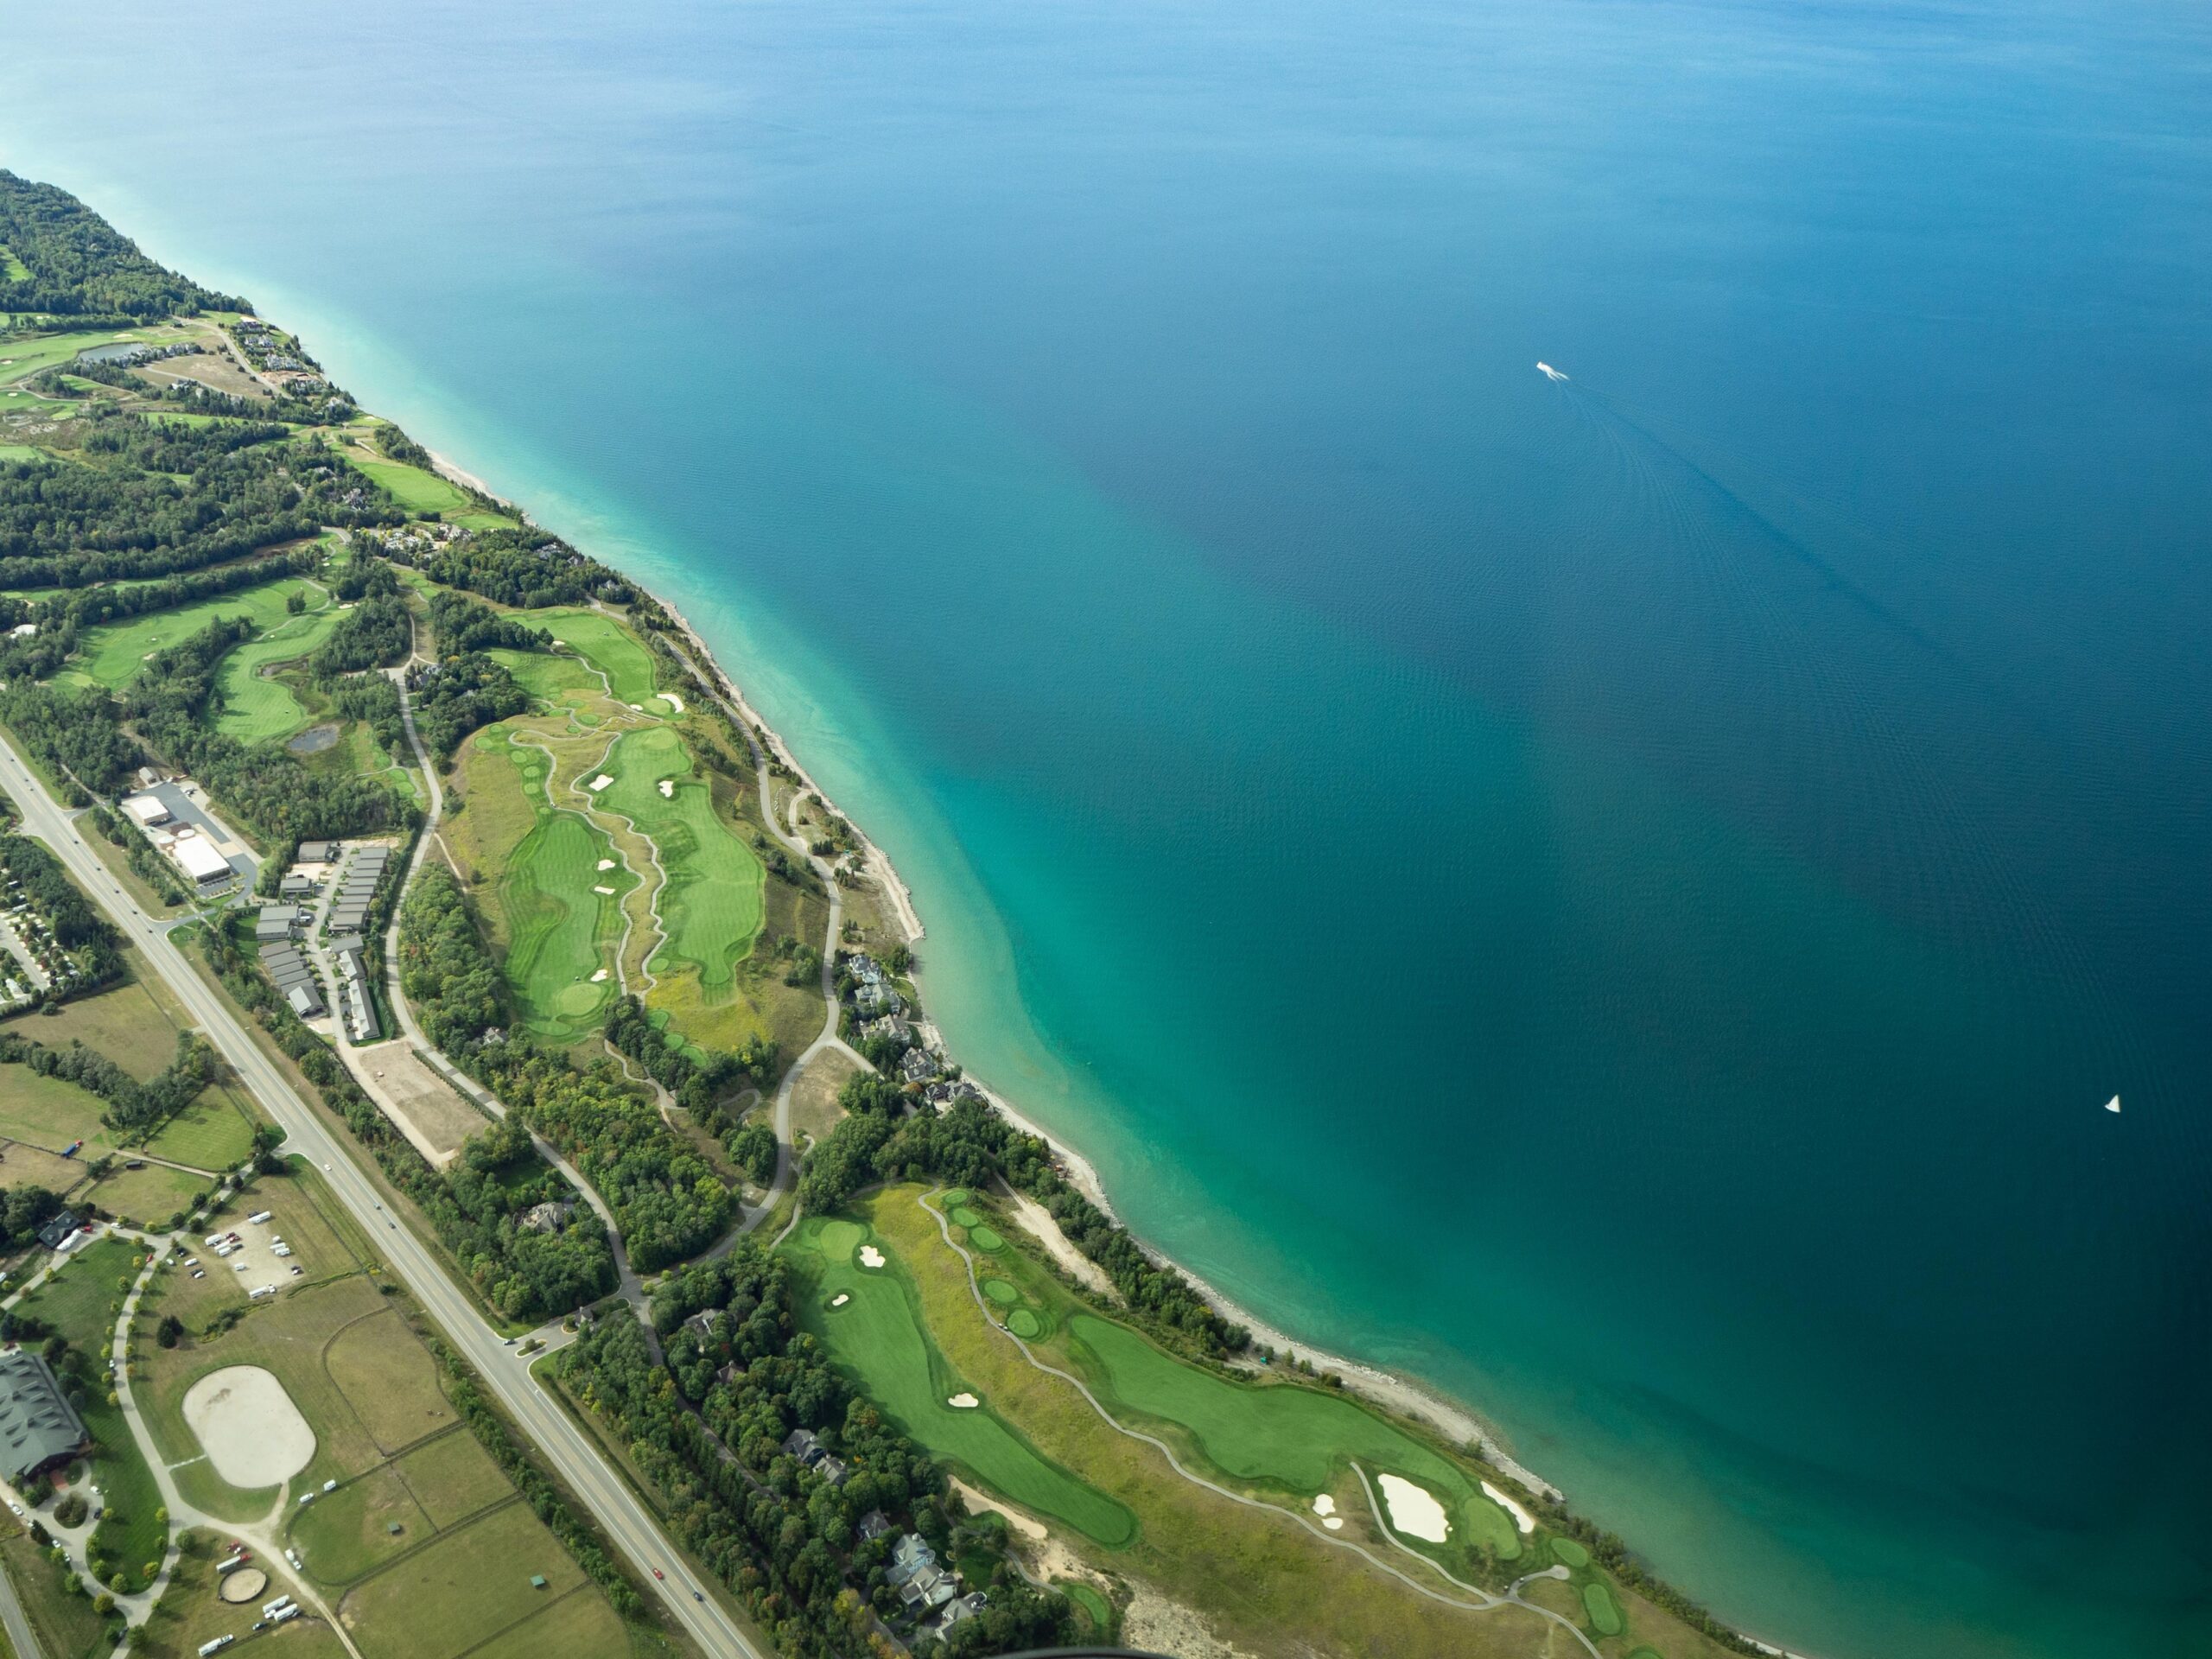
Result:
<svg viewBox="0 0 2212 1659"><path fill-rule="evenodd" d="M0 164L677 599L1146 1237L1763 1635L2163 1659L2208 35L104 4Z"/></svg>

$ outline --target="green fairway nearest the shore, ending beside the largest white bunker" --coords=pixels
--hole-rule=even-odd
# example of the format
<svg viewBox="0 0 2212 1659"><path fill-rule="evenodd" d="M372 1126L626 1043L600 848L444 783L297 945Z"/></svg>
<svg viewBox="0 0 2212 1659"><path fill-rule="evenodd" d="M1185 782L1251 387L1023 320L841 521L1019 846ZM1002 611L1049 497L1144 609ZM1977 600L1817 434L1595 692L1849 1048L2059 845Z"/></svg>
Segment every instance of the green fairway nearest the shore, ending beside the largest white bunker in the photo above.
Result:
<svg viewBox="0 0 2212 1659"><path fill-rule="evenodd" d="M1312 1498L1329 1491L1347 1460L1358 1460L1369 1473L1405 1475L1436 1493L1451 1517L1453 1544L1489 1544L1502 1559L1522 1553L1513 1520L1471 1475L1343 1396L1230 1383L1097 1314L1071 1314L1068 1332L1108 1409L1181 1425L1206 1458L1239 1480Z"/></svg>

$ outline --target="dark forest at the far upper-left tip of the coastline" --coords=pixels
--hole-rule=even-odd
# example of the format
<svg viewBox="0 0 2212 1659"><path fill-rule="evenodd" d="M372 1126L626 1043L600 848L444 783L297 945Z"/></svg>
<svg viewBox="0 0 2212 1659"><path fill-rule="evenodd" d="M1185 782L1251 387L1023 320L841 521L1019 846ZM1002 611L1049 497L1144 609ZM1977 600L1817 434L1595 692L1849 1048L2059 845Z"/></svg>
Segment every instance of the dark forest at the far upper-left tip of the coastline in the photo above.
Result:
<svg viewBox="0 0 2212 1659"><path fill-rule="evenodd" d="M0 248L29 272L7 281L0 310L55 316L175 316L252 310L164 270L69 190L0 168Z"/></svg>

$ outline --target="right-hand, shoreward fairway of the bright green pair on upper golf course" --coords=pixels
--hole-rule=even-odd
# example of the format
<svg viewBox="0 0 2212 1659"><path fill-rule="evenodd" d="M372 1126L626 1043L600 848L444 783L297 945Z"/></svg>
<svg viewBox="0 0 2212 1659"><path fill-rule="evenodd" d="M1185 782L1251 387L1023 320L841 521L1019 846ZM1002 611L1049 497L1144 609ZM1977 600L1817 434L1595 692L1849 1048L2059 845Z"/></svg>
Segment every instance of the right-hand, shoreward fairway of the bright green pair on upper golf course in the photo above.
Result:
<svg viewBox="0 0 2212 1659"><path fill-rule="evenodd" d="M692 770L675 728L624 734L606 772L615 781L599 790L599 810L619 812L650 836L668 876L653 898L666 936L653 953L653 971L690 969L710 1000L730 993L737 964L752 953L761 931L768 872L737 827L714 812L712 790Z"/></svg>

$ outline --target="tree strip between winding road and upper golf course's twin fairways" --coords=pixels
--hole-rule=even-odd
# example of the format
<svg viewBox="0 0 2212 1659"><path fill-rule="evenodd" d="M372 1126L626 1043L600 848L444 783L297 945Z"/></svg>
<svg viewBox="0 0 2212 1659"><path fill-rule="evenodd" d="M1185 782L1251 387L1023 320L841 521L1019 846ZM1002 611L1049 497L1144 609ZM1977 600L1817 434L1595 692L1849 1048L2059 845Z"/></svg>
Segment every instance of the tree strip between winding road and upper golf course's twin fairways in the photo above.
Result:
<svg viewBox="0 0 2212 1659"><path fill-rule="evenodd" d="M639 1272L695 1256L737 1221L737 1199L650 1099L602 1062L577 1071L509 1026L500 971L460 883L427 865L400 909L400 989L425 1035L511 1113L575 1159Z"/></svg>

